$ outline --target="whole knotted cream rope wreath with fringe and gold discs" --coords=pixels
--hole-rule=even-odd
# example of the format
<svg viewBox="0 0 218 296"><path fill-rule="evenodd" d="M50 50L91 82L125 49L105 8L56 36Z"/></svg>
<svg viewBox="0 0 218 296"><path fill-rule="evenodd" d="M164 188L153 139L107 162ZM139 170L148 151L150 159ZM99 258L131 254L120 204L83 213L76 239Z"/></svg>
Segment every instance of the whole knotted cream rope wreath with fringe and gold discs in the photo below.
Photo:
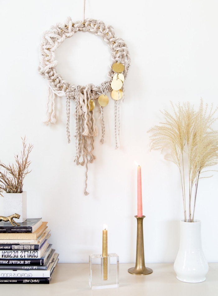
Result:
<svg viewBox="0 0 218 296"><path fill-rule="evenodd" d="M101 83L99 86L87 84L86 86L75 86L64 80L57 73L55 61L55 50L68 37L73 36L77 31L89 31L102 37L111 50L112 63L108 72L108 80ZM100 20L87 18L84 22L72 22L71 17L68 17L64 24L57 23L51 27L51 31L45 31L40 44L40 66L39 73L48 80L48 105L47 105L47 121L46 124L56 123L55 115L55 94L58 96L66 96L67 109L67 137L70 142L69 121L70 121L70 99L75 100L75 120L76 120L76 157L77 165L86 166L86 180L84 194L88 195L87 189L87 172L88 162L93 162L95 156L92 154L94 149L94 137L97 136L98 130L94 117L94 101L98 99L100 104L100 117L102 120L102 139L104 143L104 117L103 106L107 105L108 99L106 93L113 88L115 102L115 138L117 144L117 128L119 135L119 100L122 97L124 100L123 81L127 76L130 66L130 56L126 43L119 37L115 37L112 26L106 26ZM118 69L118 70L116 70ZM121 71L122 70L122 71ZM119 76L120 75L120 76ZM103 103L102 103L103 100Z"/></svg>

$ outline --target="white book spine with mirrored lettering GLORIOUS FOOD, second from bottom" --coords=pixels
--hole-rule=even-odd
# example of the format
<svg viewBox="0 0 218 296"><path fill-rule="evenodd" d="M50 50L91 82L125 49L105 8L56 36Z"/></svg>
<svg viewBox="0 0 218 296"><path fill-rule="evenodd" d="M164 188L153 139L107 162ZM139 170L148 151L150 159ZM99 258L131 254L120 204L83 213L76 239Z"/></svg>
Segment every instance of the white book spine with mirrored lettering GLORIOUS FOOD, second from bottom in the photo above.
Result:
<svg viewBox="0 0 218 296"><path fill-rule="evenodd" d="M50 278L50 270L1 270L1 278Z"/></svg>

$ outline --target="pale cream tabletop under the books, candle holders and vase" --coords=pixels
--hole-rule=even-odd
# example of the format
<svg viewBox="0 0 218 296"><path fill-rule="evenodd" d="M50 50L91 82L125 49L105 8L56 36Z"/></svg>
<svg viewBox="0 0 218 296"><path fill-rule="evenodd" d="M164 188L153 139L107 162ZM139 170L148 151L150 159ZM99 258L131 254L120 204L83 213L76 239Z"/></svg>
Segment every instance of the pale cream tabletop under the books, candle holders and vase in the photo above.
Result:
<svg viewBox="0 0 218 296"><path fill-rule="evenodd" d="M180 282L171 263L147 263L149 275L133 275L120 264L120 287L91 290L88 264L59 263L50 284L1 284L1 295L22 296L217 296L218 263L209 263L206 281L198 284Z"/></svg>

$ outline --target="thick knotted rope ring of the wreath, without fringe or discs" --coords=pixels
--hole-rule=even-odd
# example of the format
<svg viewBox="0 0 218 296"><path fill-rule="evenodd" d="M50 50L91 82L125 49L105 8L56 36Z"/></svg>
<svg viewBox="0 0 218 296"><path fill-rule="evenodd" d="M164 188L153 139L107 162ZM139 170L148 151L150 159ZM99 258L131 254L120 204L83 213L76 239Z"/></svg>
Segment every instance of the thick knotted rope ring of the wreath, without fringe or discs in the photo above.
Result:
<svg viewBox="0 0 218 296"><path fill-rule="evenodd" d="M111 50L112 63L108 72L109 79L112 80L115 74L112 65L116 62L123 64L123 75L126 78L130 66L129 51L123 39L115 37L113 27L106 26L101 20L87 18L84 22L72 22L71 17L68 17L65 23L57 23L56 26L51 27L51 31L45 31L40 44L40 66L38 71L48 80L55 94L64 96L68 89L71 90L76 87L57 73L56 66L58 62L55 61L55 50L66 38L73 36L77 31L89 31L102 37ZM103 83L108 84L108 81ZM81 87L81 89L83 88L84 86ZM102 88L92 85L92 91L94 91L93 98L96 99L102 93Z"/></svg>

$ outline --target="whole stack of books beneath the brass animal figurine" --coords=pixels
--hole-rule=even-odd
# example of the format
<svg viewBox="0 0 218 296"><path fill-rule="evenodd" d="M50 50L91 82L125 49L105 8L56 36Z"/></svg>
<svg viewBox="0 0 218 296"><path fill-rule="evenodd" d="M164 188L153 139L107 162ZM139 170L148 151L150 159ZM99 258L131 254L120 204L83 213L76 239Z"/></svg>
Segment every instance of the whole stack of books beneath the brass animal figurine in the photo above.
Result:
<svg viewBox="0 0 218 296"><path fill-rule="evenodd" d="M48 242L47 223L41 218L20 226L0 222L0 284L50 283L59 254Z"/></svg>

